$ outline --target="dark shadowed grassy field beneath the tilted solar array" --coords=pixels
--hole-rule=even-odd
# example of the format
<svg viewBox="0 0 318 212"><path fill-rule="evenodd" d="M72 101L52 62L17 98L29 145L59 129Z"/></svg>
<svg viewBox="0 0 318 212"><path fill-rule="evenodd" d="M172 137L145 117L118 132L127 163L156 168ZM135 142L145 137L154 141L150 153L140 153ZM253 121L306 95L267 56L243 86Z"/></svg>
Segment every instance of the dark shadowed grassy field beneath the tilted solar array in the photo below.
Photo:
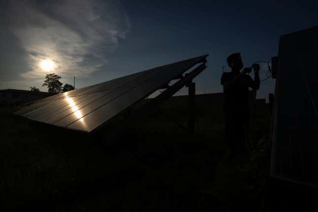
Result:
<svg viewBox="0 0 318 212"><path fill-rule="evenodd" d="M226 159L220 105L196 106L195 135L153 111L109 145L1 108L4 211L261 211L269 111L252 118L249 154ZM171 99L161 109L186 124L186 100Z"/></svg>

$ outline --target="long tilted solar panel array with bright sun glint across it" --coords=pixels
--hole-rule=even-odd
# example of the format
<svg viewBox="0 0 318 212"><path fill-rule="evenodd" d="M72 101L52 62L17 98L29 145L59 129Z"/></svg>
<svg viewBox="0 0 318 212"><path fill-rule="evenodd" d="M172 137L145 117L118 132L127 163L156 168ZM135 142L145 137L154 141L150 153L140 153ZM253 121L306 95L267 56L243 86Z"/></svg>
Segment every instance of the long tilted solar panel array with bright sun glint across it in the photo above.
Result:
<svg viewBox="0 0 318 212"><path fill-rule="evenodd" d="M73 130L91 132L147 97L208 55L141 71L35 101L15 114Z"/></svg>

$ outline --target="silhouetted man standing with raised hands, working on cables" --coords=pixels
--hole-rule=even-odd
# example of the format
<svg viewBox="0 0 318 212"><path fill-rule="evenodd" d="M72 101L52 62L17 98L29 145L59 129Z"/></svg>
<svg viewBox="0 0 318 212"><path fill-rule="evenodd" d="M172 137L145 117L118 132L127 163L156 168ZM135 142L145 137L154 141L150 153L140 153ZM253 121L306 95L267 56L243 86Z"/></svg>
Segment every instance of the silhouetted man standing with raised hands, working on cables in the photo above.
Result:
<svg viewBox="0 0 318 212"><path fill-rule="evenodd" d="M259 65L253 64L254 80L247 75L252 68L245 68L240 53L228 56L227 63L232 71L224 72L221 85L224 92L225 141L231 149L242 147L247 136L249 124L248 88L254 91L259 88Z"/></svg>

